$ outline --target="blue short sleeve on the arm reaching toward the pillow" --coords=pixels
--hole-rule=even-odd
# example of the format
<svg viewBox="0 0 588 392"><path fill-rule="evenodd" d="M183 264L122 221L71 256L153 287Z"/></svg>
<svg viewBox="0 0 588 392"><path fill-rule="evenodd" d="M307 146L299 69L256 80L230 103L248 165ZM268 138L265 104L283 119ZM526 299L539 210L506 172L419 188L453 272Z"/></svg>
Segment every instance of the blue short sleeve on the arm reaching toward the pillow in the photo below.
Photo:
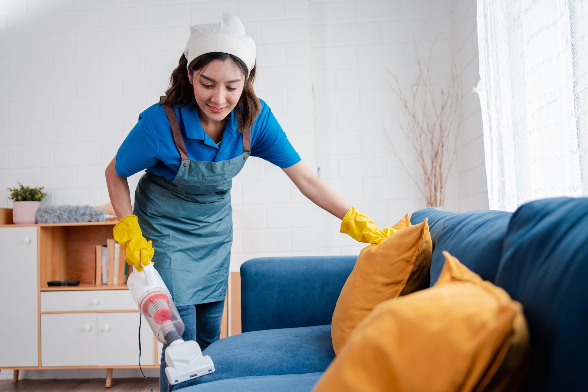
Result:
<svg viewBox="0 0 588 392"><path fill-rule="evenodd" d="M300 162L300 156L294 149L282 127L265 102L262 112L253 127L251 155L265 159L284 169Z"/></svg>

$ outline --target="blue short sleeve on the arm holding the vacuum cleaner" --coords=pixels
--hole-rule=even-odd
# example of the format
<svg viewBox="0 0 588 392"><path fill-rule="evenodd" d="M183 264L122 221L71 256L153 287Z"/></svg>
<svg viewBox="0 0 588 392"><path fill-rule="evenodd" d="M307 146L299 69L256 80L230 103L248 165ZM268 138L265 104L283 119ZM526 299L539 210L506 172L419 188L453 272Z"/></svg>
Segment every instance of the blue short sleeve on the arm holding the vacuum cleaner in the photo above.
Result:
<svg viewBox="0 0 588 392"><path fill-rule="evenodd" d="M129 177L158 162L157 144L148 118L139 120L116 152L116 173Z"/></svg>

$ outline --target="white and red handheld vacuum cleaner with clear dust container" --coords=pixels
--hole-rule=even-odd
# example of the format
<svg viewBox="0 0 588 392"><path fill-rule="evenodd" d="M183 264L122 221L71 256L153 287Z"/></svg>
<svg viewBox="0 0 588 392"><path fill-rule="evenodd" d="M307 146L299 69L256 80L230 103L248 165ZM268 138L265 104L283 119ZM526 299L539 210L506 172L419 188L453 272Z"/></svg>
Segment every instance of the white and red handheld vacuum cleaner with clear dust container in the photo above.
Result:
<svg viewBox="0 0 588 392"><path fill-rule="evenodd" d="M133 266L126 285L147 319L157 340L168 345L165 349L165 374L172 385L201 377L215 371L211 357L203 356L194 340L184 341L185 329L168 287L152 263L138 272Z"/></svg>

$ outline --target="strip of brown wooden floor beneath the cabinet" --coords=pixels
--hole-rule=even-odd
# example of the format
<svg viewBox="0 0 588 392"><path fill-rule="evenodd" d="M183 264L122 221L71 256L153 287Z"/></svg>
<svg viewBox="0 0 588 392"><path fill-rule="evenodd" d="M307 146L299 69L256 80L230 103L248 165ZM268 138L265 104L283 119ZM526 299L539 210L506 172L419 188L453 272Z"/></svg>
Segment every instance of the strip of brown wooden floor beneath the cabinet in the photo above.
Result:
<svg viewBox="0 0 588 392"><path fill-rule="evenodd" d="M149 378L153 391L159 391L159 378ZM0 381L0 392L151 392L145 378L113 378L112 387L104 386L104 378L92 378L90 380L12 380Z"/></svg>

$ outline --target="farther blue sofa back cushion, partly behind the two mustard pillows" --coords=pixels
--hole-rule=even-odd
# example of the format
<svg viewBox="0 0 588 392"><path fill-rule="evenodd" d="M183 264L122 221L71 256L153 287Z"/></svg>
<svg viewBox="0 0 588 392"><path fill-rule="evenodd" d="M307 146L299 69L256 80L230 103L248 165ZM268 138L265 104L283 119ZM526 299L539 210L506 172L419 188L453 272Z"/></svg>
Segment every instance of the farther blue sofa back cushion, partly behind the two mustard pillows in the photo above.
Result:
<svg viewBox="0 0 588 392"><path fill-rule="evenodd" d="M502 242L512 213L503 211L443 212L426 208L413 213L413 225L429 218L433 257L430 286L441 273L443 250L457 257L468 269L484 280L495 283L502 255Z"/></svg>

